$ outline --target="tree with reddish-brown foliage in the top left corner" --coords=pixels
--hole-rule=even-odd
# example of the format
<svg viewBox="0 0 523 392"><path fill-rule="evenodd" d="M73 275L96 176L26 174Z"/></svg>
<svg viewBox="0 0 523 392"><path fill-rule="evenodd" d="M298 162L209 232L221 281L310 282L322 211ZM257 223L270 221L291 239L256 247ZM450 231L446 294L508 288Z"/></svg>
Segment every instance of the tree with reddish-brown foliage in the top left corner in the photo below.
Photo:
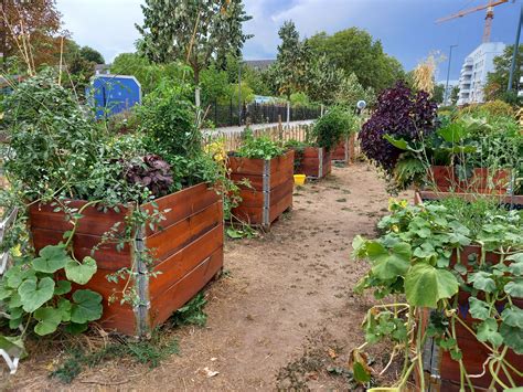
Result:
<svg viewBox="0 0 523 392"><path fill-rule="evenodd" d="M8 59L17 57L31 64L56 64L60 59L61 14L56 0L4 0L0 2L0 52L3 67ZM23 49L22 41L30 44ZM31 53L31 54L29 54Z"/></svg>

